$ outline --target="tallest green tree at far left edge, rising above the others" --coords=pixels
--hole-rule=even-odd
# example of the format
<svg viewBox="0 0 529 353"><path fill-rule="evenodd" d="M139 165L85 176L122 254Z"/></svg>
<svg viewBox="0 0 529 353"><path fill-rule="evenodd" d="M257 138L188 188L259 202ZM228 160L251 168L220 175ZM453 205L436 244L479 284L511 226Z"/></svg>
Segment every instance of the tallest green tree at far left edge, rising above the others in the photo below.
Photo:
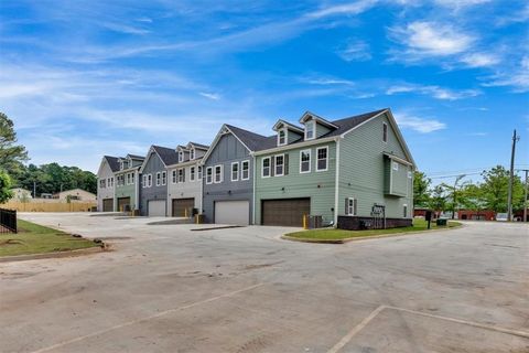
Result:
<svg viewBox="0 0 529 353"><path fill-rule="evenodd" d="M9 172L28 160L25 147L17 145L17 141L13 121L0 113L0 169Z"/></svg>

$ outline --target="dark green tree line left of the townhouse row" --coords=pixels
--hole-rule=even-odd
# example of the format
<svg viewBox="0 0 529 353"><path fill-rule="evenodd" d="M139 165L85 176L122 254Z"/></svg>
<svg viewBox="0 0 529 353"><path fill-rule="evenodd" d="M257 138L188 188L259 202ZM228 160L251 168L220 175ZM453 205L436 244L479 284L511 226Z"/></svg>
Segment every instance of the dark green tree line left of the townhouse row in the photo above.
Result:
<svg viewBox="0 0 529 353"><path fill-rule="evenodd" d="M12 197L12 188L34 190L36 195L77 188L97 193L97 176L89 171L58 163L25 165L28 160L25 147L18 143L13 121L0 113L0 203Z"/></svg>

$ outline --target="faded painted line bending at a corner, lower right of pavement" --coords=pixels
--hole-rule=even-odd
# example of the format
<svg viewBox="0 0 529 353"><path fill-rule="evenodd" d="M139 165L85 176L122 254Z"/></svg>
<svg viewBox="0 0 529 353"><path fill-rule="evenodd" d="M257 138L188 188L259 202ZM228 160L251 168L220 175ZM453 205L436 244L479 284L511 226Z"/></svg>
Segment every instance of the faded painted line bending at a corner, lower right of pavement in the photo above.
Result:
<svg viewBox="0 0 529 353"><path fill-rule="evenodd" d="M431 319L438 319L438 320L444 320L444 321L466 324L466 325L469 325L469 327L473 327L473 328L478 328L478 329L484 329L484 330L489 330L489 331L496 331L496 332L500 332L500 333L506 333L506 334L520 336L520 338L523 338L523 339L529 339L529 332L526 332L526 331L505 329L505 328L500 328L500 327L497 327L497 325L490 325L490 324L484 324L484 323L474 322L474 321L442 317L442 315L436 315L436 314L432 314L432 313L428 313L428 312L415 311L415 310L410 310L410 309L404 309L404 308L380 306L377 309L375 309L374 311L371 311L371 313L369 315L367 315L364 320L361 320L360 323L358 323L356 327L354 327L345 336L342 338L342 340L338 341L338 343L336 343L331 350L328 350L327 353L339 352L345 345L347 345L347 343L350 342L350 340L353 340L355 338L355 335L357 335L361 330L364 330L373 319L375 319L380 312L382 312L386 309L407 312L407 313L421 315L421 317L427 317L427 318L431 318Z"/></svg>

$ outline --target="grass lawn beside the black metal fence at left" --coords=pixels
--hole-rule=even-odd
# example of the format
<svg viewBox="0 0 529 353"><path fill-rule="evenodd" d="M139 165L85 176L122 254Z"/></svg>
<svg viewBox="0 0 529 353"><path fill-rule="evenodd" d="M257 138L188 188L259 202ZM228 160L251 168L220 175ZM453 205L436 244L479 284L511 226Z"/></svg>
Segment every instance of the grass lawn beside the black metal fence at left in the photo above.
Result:
<svg viewBox="0 0 529 353"><path fill-rule="evenodd" d="M0 234L0 256L67 252L98 246L61 231L31 222L18 221L18 234Z"/></svg>

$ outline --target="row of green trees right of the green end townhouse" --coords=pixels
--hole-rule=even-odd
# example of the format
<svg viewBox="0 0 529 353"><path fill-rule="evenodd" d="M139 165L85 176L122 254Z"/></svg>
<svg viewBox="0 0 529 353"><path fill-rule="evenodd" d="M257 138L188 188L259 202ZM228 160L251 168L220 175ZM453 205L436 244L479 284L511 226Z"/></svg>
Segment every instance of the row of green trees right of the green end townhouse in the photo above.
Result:
<svg viewBox="0 0 529 353"><path fill-rule="evenodd" d="M510 172L496 165L482 172L482 182L465 181L465 175L456 176L452 183L432 184L423 172L413 178L413 205L434 211L456 212L457 210L507 212L507 197ZM512 210L523 210L526 184L514 175Z"/></svg>

